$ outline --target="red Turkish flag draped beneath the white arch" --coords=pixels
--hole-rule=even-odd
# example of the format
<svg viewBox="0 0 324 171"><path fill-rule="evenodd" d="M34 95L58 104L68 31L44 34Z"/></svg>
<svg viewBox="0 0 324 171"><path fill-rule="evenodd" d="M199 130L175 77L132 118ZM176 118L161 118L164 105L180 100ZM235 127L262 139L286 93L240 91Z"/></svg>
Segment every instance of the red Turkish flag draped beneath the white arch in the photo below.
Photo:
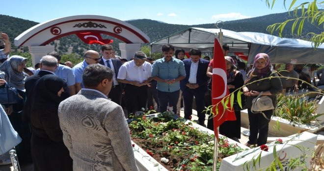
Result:
<svg viewBox="0 0 324 171"><path fill-rule="evenodd" d="M100 35L100 33L77 33L76 34L84 43L87 44L109 44L112 43L113 40L110 39L103 39Z"/></svg>

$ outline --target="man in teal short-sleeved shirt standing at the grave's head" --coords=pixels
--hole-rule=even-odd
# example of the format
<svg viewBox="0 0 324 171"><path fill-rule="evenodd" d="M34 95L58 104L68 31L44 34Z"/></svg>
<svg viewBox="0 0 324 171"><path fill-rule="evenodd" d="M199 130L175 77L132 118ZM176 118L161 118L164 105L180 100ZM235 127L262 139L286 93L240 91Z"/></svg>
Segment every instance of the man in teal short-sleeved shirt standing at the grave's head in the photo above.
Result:
<svg viewBox="0 0 324 171"><path fill-rule="evenodd" d="M186 78L184 63L172 58L174 47L171 44L162 46L163 58L153 64L152 78L158 81L158 99L160 111L166 111L169 104L173 112L177 113L177 103L180 93L180 80Z"/></svg>

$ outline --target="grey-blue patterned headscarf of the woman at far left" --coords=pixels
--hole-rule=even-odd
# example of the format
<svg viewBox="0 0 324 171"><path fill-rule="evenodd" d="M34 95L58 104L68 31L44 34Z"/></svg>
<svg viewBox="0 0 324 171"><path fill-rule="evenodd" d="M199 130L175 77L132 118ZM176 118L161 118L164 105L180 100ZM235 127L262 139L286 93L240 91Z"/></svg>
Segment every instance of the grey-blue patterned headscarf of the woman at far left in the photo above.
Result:
<svg viewBox="0 0 324 171"><path fill-rule="evenodd" d="M0 71L5 73L5 81L19 89L24 91L25 90L25 79L23 72L18 72L18 65L22 64L27 58L14 55L7 59L4 63L0 66Z"/></svg>

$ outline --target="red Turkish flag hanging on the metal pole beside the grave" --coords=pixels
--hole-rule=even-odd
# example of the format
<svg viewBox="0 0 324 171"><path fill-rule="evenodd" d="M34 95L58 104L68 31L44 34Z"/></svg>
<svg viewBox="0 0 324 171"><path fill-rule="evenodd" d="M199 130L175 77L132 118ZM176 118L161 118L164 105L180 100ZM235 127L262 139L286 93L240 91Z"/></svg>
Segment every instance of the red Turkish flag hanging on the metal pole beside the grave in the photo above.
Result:
<svg viewBox="0 0 324 171"><path fill-rule="evenodd" d="M213 112L216 115L214 120L214 132L219 142L218 138L218 127L224 123L225 121L235 121L235 113L232 110L226 110L221 100L223 97L229 95L229 91L227 88L227 77L226 77L226 64L225 58L218 40L215 39L214 42L214 58L213 58L213 78L212 78L212 104L213 104ZM229 100L229 98L228 98ZM224 99L224 102L226 100ZM218 104L217 106L215 106ZM227 107L230 108L230 103L228 102ZM216 108L218 109L218 113L216 114Z"/></svg>

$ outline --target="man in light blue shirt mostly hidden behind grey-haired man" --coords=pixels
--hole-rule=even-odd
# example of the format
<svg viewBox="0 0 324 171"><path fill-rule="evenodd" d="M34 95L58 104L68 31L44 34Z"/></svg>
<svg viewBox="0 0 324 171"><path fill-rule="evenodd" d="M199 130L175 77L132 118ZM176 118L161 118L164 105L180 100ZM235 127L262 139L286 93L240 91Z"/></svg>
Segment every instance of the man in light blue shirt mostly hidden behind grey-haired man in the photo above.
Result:
<svg viewBox="0 0 324 171"><path fill-rule="evenodd" d="M76 94L76 88L75 88L76 77L74 76L72 69L68 66L60 64L62 57L58 52L53 51L53 52L48 53L47 55L54 56L57 59L57 68L55 69L54 73L56 76L58 76L59 78L66 81L70 96L75 95ZM39 70L40 69L37 69L35 74L37 74L39 72Z"/></svg>

